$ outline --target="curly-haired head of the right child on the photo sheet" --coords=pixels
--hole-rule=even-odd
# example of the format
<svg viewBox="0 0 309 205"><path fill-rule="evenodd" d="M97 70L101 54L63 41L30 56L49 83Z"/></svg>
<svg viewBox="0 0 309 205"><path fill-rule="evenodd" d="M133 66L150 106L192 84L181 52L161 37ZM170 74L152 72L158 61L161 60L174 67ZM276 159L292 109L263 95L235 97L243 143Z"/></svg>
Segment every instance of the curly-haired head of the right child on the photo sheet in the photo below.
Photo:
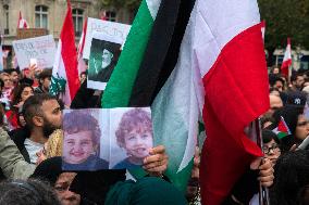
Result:
<svg viewBox="0 0 309 205"><path fill-rule="evenodd" d="M149 112L133 108L123 114L115 132L116 142L133 161L143 161L153 146L152 124Z"/></svg>

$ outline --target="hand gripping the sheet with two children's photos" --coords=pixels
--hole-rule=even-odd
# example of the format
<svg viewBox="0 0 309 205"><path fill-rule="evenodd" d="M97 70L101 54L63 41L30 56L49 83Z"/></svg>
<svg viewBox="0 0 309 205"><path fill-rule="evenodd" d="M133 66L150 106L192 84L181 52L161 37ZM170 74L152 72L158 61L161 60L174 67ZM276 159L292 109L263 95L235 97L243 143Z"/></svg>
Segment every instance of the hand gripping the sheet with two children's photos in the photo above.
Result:
<svg viewBox="0 0 309 205"><path fill-rule="evenodd" d="M159 145L149 151L149 156L144 159L143 168L154 177L160 177L166 170L169 157L165 153L165 146Z"/></svg>

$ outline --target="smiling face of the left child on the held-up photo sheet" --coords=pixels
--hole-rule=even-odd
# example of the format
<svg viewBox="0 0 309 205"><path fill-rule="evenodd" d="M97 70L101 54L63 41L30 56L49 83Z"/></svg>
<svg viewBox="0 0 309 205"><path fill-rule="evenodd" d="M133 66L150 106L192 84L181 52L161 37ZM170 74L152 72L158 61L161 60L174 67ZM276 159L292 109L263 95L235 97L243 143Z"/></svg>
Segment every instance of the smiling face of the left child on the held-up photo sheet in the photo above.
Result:
<svg viewBox="0 0 309 205"><path fill-rule="evenodd" d="M94 152L95 144L91 131L79 131L64 134L63 159L70 164L84 163Z"/></svg>

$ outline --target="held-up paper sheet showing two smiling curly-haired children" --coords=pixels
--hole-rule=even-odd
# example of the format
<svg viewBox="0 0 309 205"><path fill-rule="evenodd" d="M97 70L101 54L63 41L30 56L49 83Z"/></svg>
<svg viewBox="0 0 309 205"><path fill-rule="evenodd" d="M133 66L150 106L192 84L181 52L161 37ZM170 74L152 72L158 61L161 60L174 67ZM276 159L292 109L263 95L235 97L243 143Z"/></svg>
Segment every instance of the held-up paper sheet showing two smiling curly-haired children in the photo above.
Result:
<svg viewBox="0 0 309 205"><path fill-rule="evenodd" d="M153 146L150 107L64 110L63 170L140 168Z"/></svg>

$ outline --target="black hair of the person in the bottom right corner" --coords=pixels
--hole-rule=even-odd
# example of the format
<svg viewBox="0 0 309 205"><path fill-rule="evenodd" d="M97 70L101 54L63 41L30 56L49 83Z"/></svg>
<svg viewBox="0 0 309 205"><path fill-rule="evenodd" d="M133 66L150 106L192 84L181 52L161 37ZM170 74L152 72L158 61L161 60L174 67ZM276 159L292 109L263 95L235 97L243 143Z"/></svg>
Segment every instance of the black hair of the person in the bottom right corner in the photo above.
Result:
<svg viewBox="0 0 309 205"><path fill-rule="evenodd" d="M309 184L309 152L287 152L279 157L274 169L271 204L296 205L299 191Z"/></svg>

